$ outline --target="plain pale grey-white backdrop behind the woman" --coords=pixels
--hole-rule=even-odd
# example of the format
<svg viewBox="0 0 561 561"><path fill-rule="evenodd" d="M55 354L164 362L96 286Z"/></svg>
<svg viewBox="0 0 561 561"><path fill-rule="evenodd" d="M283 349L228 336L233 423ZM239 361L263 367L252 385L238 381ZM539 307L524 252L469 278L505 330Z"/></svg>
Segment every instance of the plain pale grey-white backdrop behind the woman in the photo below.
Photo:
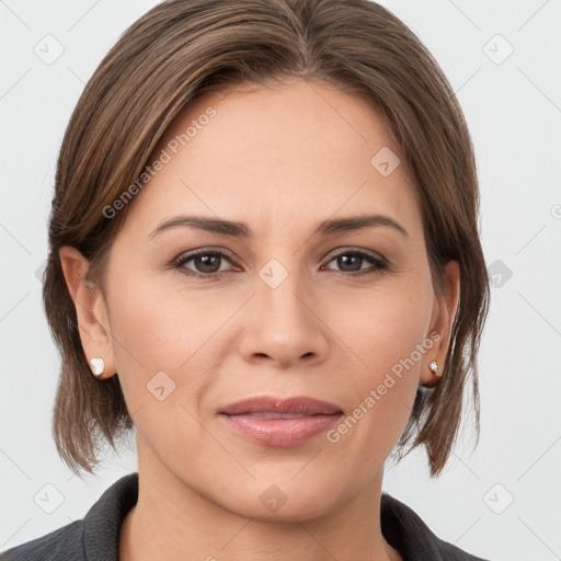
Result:
<svg viewBox="0 0 561 561"><path fill-rule="evenodd" d="M0 0L0 551L82 518L136 470L134 450L83 481L58 458L59 358L39 278L70 113L108 48L156 3ZM474 554L561 559L561 1L382 3L427 45L463 107L493 282L478 448L466 423L439 479L420 451L388 469L383 486Z"/></svg>

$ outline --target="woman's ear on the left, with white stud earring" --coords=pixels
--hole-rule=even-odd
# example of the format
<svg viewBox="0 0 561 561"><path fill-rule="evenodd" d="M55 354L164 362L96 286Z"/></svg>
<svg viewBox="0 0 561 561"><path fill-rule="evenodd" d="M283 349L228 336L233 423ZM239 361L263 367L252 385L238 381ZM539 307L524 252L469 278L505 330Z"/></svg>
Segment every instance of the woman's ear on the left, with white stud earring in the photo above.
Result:
<svg viewBox="0 0 561 561"><path fill-rule="evenodd" d="M76 307L78 330L88 366L93 371L90 359L102 357L105 368L100 379L111 378L116 374L116 368L103 294L100 288L85 280L90 263L76 248L65 245L58 254L68 291Z"/></svg>

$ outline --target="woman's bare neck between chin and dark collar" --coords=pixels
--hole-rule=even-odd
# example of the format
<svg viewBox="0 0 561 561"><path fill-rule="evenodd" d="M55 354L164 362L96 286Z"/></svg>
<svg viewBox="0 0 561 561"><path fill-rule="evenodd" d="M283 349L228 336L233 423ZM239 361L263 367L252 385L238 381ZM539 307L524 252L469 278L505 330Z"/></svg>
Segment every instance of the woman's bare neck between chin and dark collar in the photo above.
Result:
<svg viewBox="0 0 561 561"><path fill-rule="evenodd" d="M339 508L311 518L242 516L139 455L138 502L121 529L119 561L294 559L401 561L380 530L382 473Z"/></svg>

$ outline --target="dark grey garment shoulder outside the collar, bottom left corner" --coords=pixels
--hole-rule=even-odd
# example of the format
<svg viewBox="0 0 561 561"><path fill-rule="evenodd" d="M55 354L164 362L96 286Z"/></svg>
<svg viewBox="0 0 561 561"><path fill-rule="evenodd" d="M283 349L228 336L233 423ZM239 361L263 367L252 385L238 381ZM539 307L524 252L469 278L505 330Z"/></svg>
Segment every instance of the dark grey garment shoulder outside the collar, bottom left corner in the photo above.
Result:
<svg viewBox="0 0 561 561"><path fill-rule="evenodd" d="M85 559L82 536L83 520L72 522L41 538L0 553L0 561L80 561Z"/></svg>

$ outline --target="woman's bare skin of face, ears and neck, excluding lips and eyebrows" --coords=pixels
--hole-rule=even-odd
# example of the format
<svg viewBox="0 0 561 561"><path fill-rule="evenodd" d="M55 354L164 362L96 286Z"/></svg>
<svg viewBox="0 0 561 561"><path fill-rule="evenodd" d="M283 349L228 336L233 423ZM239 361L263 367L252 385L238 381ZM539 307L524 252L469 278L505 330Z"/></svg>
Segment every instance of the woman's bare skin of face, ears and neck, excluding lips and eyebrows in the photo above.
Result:
<svg viewBox="0 0 561 561"><path fill-rule="evenodd" d="M154 153L209 105L217 115L130 203L105 291L84 283L88 261L76 249L60 250L85 355L104 358L100 383L118 373L136 425L139 499L119 559L399 560L380 531L383 463L417 386L435 383L428 364L444 364L457 263L435 294L411 174L359 98L298 79L239 84L190 105ZM370 164L382 147L401 158L388 176ZM366 211L408 234L388 226L312 233ZM253 236L175 227L150 237L180 214L241 220ZM170 266L197 249L229 256L183 271L220 273ZM352 250L388 266L335 259ZM275 288L259 275L271 259L288 274ZM336 444L320 433L273 448L218 419L220 407L260 394L310 396L351 414L432 332L439 342ZM160 370L175 383L163 401L147 389ZM260 501L272 484L286 496L276 512Z"/></svg>

